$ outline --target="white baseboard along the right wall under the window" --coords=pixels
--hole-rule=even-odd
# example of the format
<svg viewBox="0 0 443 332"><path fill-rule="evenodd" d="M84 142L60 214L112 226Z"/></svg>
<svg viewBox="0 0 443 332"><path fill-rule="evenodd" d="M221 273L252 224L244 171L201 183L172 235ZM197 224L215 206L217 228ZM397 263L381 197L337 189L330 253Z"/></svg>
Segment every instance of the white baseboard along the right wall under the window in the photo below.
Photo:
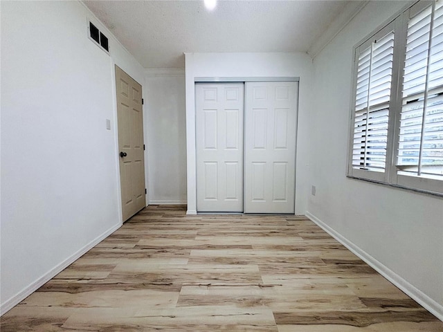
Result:
<svg viewBox="0 0 443 332"><path fill-rule="evenodd" d="M383 275L386 279L388 279L392 284L395 284L398 288L401 289L404 293L409 295L411 298L415 299L419 304L421 304L426 310L431 312L435 317L437 317L439 320L443 321L443 305L436 302L434 299L431 299L431 297L428 297L425 293L420 291L418 288L407 282L404 278L397 275L394 271L390 270L387 266L381 264L381 262L377 261L374 257L368 254L368 252L365 252L358 246L356 246L354 243L352 243L350 240L346 239L341 235L340 233L336 232L336 230L330 228L328 225L323 223L320 219L318 219L314 214L311 214L310 212L306 212L306 216L311 219L311 221L314 221L320 228L323 228L325 232L327 232L329 235L334 237L338 242L343 244L346 248L348 248L350 251L352 251L355 255L357 255L359 258L361 258L363 261L365 261L369 266L374 268L374 270L377 270L378 273Z"/></svg>

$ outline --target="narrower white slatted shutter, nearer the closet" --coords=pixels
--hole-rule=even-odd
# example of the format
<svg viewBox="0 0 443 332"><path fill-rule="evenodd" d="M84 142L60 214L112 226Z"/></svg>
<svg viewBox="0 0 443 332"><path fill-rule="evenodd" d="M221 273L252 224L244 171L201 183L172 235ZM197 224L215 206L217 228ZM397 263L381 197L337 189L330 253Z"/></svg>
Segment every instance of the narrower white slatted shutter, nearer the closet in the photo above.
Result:
<svg viewBox="0 0 443 332"><path fill-rule="evenodd" d="M394 31L391 25L381 32L356 55L352 168L384 173Z"/></svg>

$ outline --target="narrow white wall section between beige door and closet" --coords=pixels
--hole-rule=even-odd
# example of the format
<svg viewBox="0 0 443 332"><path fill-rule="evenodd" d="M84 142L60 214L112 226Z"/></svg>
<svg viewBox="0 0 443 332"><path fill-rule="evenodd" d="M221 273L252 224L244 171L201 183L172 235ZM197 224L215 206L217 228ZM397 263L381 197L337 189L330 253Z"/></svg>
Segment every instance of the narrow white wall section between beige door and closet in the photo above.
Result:
<svg viewBox="0 0 443 332"><path fill-rule="evenodd" d="M186 204L184 71L145 71L143 98L149 203Z"/></svg>

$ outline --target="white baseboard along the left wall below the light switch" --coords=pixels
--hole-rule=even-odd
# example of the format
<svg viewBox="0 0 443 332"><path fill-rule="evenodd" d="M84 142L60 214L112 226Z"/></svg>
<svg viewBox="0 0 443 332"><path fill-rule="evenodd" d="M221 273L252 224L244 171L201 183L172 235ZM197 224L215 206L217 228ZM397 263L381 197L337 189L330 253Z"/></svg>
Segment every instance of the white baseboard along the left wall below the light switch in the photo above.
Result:
<svg viewBox="0 0 443 332"><path fill-rule="evenodd" d="M106 232L100 234L96 239L93 239L91 242L89 242L86 246L75 252L71 257L68 257L62 263L58 264L51 270L49 270L47 273L42 275L42 277L39 277L39 279L35 280L35 282L31 283L30 285L26 286L24 289L19 291L16 295L10 297L10 299L7 299L5 302L3 302L0 306L0 316L10 311L10 309L14 308L14 306L17 306L21 301L26 299L29 295L37 291L38 288L42 287L46 282L51 280L53 277L55 277L57 274L62 272L65 268L67 268L69 265L73 264L74 261L82 257L86 252L91 250L94 246L96 246L98 243L100 243L102 240L109 237L110 234L118 230L118 228L121 227L121 224L114 225Z"/></svg>

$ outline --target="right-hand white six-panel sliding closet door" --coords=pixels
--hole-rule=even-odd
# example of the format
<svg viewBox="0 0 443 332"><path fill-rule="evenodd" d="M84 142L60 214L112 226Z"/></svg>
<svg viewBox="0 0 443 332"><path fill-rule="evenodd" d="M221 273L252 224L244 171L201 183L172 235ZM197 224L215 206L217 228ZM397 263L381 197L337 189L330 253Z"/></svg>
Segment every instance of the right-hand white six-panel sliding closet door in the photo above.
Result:
<svg viewBox="0 0 443 332"><path fill-rule="evenodd" d="M298 82L246 82L245 213L294 213Z"/></svg>

